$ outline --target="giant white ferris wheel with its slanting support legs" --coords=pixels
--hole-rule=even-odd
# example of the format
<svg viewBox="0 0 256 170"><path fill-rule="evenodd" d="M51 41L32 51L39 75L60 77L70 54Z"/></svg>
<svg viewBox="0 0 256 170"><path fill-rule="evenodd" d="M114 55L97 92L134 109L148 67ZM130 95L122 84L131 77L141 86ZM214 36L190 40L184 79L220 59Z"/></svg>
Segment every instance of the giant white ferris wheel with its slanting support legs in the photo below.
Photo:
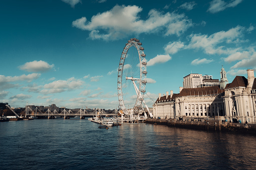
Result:
<svg viewBox="0 0 256 170"><path fill-rule="evenodd" d="M142 103L149 109L144 101L146 92L146 55L142 43L132 38L126 43L122 52L118 68L118 100L125 115L139 115L145 112ZM144 114L147 118L147 115ZM150 117L152 114L149 112Z"/></svg>

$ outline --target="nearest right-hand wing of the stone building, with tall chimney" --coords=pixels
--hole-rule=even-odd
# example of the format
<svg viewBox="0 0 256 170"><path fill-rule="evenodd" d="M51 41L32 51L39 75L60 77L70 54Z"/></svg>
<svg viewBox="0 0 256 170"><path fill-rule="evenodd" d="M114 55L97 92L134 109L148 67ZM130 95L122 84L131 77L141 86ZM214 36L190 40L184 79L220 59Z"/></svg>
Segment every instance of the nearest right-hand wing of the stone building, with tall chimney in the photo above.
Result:
<svg viewBox="0 0 256 170"><path fill-rule="evenodd" d="M232 83L225 87L224 103L226 118L254 123L256 110L256 79L254 71L247 70L247 79L236 76Z"/></svg>

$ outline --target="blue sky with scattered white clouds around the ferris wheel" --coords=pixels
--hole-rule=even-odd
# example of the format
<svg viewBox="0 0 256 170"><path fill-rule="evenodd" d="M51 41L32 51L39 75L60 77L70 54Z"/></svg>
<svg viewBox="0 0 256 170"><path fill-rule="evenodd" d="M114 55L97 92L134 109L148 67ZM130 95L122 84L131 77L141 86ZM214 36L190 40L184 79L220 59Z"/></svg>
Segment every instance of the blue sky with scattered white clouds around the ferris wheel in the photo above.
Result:
<svg viewBox="0 0 256 170"><path fill-rule="evenodd" d="M192 73L231 82L256 68L256 2L0 1L0 102L118 107L117 68L130 38L144 47L149 107ZM149 97L151 98L149 98Z"/></svg>

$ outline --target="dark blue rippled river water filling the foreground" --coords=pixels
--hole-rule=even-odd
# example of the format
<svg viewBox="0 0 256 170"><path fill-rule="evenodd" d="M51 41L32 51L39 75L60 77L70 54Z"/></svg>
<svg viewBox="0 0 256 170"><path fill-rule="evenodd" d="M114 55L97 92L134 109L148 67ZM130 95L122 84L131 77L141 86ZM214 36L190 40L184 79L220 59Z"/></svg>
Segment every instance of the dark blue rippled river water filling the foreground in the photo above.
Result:
<svg viewBox="0 0 256 170"><path fill-rule="evenodd" d="M256 136L87 119L0 122L0 169L255 169Z"/></svg>

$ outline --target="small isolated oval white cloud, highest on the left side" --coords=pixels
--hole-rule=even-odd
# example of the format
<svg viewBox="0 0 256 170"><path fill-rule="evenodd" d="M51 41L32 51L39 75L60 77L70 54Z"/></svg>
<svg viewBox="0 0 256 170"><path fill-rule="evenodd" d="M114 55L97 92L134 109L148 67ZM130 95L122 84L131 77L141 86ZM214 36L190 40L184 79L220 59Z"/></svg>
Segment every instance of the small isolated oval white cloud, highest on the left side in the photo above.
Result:
<svg viewBox="0 0 256 170"><path fill-rule="evenodd" d="M32 62L27 62L22 66L19 66L21 70L25 70L28 72L46 72L49 71L54 67L54 64L49 65L45 61L32 61Z"/></svg>

